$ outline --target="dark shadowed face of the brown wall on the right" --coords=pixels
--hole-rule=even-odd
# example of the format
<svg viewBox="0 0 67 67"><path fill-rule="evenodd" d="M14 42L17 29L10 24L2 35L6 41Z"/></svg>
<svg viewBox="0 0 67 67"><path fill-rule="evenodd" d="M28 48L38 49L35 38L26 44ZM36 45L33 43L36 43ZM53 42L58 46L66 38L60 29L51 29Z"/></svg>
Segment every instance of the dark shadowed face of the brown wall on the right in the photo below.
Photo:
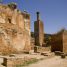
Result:
<svg viewBox="0 0 67 67"><path fill-rule="evenodd" d="M51 51L63 51L63 34L54 34L51 37Z"/></svg>

